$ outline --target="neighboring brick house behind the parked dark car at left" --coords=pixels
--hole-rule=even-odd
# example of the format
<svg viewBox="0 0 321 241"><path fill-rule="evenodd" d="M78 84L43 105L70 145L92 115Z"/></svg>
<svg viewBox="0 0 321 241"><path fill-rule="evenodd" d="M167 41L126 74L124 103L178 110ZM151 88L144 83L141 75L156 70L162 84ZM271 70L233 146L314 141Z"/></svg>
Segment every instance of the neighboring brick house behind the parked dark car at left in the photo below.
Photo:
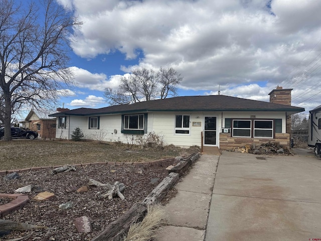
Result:
<svg viewBox="0 0 321 241"><path fill-rule="evenodd" d="M20 122L24 129L36 131L39 138L52 139L56 136L56 117L48 116L48 111L30 110L25 121Z"/></svg>

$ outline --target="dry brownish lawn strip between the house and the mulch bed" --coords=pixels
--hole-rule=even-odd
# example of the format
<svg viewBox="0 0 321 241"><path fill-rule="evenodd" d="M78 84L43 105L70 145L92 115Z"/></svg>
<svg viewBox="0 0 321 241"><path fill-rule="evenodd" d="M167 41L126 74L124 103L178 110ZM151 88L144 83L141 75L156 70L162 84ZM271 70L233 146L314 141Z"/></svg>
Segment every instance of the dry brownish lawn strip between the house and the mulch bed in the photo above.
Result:
<svg viewBox="0 0 321 241"><path fill-rule="evenodd" d="M0 141L0 170L51 167L96 162L148 162L187 156L197 147L183 149L170 145L164 150L141 149L119 143L14 140Z"/></svg>

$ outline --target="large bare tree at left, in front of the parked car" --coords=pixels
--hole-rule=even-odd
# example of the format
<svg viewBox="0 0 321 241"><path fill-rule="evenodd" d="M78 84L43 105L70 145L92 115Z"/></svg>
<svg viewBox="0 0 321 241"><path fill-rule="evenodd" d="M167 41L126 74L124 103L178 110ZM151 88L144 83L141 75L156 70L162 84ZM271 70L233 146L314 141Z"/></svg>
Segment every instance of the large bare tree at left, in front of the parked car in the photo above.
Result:
<svg viewBox="0 0 321 241"><path fill-rule="evenodd" d="M68 41L72 28L81 24L54 0L23 6L0 1L0 87L7 141L15 108L53 103L56 90L72 83Z"/></svg>

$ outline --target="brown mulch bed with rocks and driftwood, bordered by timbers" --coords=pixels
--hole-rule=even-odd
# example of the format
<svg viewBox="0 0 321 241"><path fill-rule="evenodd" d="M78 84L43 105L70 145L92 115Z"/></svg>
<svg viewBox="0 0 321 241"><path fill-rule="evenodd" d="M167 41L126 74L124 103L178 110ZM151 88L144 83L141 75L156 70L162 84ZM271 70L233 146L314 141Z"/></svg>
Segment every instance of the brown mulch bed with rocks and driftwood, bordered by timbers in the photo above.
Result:
<svg viewBox="0 0 321 241"><path fill-rule="evenodd" d="M135 202L142 201L168 175L165 169L172 164L173 161L165 161L155 166L141 165L140 167L134 165L91 165L77 168L76 171L55 175L52 175L51 171L47 169L19 173L20 179L10 181L5 181L4 176L1 176L0 192L2 193L13 193L17 188L29 184L35 186L33 191L29 193L30 201L22 209L7 214L4 219L49 227L49 229L33 231L12 231L1 238L8 240L30 234L27 239L23 240L91 240L108 223L120 217ZM124 183L125 200L118 197L113 200L97 199L95 194L98 191L104 193L104 189L101 187L90 186L89 191L84 193L67 190L86 185L90 178L101 183L113 184L116 181ZM33 200L33 197L43 191L52 192L55 196L47 201ZM6 200L1 201L5 202ZM68 201L74 202L74 207L69 210L60 210L59 205ZM77 232L74 219L81 216L90 218L92 232Z"/></svg>

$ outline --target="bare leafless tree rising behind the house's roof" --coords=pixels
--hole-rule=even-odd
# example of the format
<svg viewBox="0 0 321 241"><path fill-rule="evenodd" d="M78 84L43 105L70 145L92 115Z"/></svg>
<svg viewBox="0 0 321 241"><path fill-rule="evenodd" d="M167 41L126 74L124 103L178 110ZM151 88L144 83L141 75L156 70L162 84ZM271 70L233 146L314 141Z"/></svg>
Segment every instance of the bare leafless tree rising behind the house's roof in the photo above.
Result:
<svg viewBox="0 0 321 241"><path fill-rule="evenodd" d="M177 96L177 85L182 80L181 74L172 67L161 67L157 72L136 68L129 76L121 78L118 90L106 88L104 95L111 105L164 99L169 95Z"/></svg>

